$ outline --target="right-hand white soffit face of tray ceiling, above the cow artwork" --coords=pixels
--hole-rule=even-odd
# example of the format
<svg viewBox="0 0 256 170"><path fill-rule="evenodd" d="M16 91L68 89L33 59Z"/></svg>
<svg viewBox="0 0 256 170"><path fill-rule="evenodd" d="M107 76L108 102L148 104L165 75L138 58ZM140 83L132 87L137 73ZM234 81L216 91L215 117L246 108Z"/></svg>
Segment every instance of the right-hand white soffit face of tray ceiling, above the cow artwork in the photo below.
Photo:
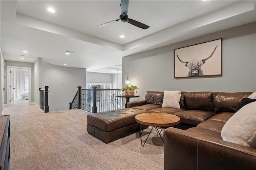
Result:
<svg viewBox="0 0 256 170"><path fill-rule="evenodd" d="M127 43L126 45L124 45L124 51L134 48L140 48L142 44L145 47L148 46L147 48L145 48L148 50L152 49L149 48L150 46L156 47L155 45L158 45L160 43L168 42L167 44L164 43L162 45L159 45L158 47L180 42L197 36L202 36L204 34L217 32L219 30L232 28L234 26L254 22L256 20L255 15L246 15L246 13L250 11L255 14L255 10L253 10L253 1L237 2L236 4L232 4L230 6L221 8L217 11L208 13L198 18L194 18L192 20L182 22L180 24L166 28L134 42ZM240 20L236 20L235 17L239 18L241 15L242 18L240 18ZM232 19L232 17L234 18ZM232 22L229 21L230 19L232 19ZM224 20L225 22L222 22ZM240 22L239 24L238 21ZM219 22L222 22L222 24L219 24ZM209 25L211 25L211 29L205 29L205 27ZM195 34L197 30L199 30L199 34ZM204 34L202 34L202 31L204 32Z"/></svg>

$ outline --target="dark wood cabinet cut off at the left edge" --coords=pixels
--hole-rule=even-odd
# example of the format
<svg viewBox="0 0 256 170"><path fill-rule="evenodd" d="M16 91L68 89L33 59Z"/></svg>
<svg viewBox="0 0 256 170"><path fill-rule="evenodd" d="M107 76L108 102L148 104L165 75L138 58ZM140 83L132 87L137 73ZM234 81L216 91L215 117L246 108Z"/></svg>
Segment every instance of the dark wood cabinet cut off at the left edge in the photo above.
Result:
<svg viewBox="0 0 256 170"><path fill-rule="evenodd" d="M0 135L1 135L0 170L8 170L10 166L10 115L0 116Z"/></svg>

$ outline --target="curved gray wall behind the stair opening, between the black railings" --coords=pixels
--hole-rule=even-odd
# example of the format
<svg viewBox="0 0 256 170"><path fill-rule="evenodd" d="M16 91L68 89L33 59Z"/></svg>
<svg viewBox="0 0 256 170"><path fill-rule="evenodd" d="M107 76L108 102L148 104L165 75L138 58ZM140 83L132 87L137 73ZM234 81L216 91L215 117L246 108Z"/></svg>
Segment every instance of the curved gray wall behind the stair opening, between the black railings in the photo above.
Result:
<svg viewBox="0 0 256 170"><path fill-rule="evenodd" d="M49 86L49 110L69 109L77 87L86 87L86 69L61 67L42 61L42 84Z"/></svg>

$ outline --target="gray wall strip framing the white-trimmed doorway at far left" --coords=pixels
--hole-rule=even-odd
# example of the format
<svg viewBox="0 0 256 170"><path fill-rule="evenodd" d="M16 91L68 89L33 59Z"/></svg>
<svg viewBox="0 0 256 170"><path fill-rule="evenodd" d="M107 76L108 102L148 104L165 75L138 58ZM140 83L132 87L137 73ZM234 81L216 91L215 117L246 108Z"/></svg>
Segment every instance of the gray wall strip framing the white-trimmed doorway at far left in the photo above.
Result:
<svg viewBox="0 0 256 170"><path fill-rule="evenodd" d="M10 66L18 66L18 67L30 67L31 68L31 91L30 91L30 94L31 94L31 102L34 101L34 65L33 63L26 63L26 62L18 62L18 61L8 61L8 60L5 60L4 61L5 63L5 66L4 66L4 87L7 87L7 65L10 65ZM6 104L7 103L7 89L4 91L4 103Z"/></svg>

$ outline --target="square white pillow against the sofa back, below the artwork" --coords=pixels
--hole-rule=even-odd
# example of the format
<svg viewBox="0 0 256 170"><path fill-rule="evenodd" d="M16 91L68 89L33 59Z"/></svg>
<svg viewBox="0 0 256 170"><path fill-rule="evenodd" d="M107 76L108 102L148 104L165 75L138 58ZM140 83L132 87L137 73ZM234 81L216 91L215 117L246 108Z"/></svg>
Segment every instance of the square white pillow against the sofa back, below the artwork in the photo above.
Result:
<svg viewBox="0 0 256 170"><path fill-rule="evenodd" d="M180 109L181 91L164 91L164 101L162 107L173 107Z"/></svg>

